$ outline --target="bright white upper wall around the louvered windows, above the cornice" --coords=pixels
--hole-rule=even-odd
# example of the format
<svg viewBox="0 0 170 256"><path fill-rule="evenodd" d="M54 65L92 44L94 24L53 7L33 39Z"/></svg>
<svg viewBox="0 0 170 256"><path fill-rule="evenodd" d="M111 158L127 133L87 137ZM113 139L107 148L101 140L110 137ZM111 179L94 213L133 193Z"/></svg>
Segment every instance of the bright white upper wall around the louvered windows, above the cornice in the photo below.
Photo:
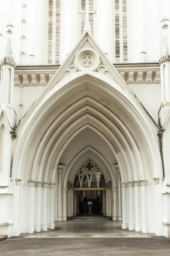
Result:
<svg viewBox="0 0 170 256"><path fill-rule="evenodd" d="M70 3L68 3L70 2ZM113 0L95 0L94 9L94 38L108 53L114 62L113 41ZM22 4L25 3L26 7ZM14 56L17 65L28 64L28 55L35 55L34 64L45 63L47 46L46 5L48 0L6 0L0 2L0 58L6 42L6 25L11 20L13 28ZM128 51L130 62L140 62L140 52L147 53L146 61L159 61L161 51L161 23L165 15L170 13L170 1L164 0L127 0L128 12ZM78 0L61 2L61 33L60 33L60 62L65 59L79 40ZM23 18L26 20L23 23ZM170 17L169 17L170 18ZM22 39L22 35L25 38ZM24 51L23 60L21 51Z"/></svg>

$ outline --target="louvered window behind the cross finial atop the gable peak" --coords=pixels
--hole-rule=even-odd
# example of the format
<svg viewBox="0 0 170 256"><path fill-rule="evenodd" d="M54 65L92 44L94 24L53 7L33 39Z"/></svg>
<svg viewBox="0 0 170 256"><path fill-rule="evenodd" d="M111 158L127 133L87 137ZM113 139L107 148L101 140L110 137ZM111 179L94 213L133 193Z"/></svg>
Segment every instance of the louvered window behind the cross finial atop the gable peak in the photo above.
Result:
<svg viewBox="0 0 170 256"><path fill-rule="evenodd" d="M94 0L89 0L89 10L90 11L94 10L93 1ZM80 9L82 11L85 11L85 0L80 0ZM89 14L89 21L91 24L91 35L93 36L93 32L94 32L94 14L93 13ZM82 13L81 14L81 34L83 34L84 26L85 26L85 13Z"/></svg>

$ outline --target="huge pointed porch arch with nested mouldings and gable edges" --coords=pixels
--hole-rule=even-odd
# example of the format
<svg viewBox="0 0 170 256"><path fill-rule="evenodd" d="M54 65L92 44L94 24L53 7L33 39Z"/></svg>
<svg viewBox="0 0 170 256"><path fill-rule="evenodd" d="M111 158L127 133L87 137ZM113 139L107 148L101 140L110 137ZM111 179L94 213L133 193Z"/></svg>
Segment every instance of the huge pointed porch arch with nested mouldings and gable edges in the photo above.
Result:
<svg viewBox="0 0 170 256"><path fill-rule="evenodd" d="M87 37L112 77L88 68L65 76ZM29 163L30 180L54 182L63 151L87 127L111 148L122 182L161 177L158 127L86 33L17 126L13 178Z"/></svg>

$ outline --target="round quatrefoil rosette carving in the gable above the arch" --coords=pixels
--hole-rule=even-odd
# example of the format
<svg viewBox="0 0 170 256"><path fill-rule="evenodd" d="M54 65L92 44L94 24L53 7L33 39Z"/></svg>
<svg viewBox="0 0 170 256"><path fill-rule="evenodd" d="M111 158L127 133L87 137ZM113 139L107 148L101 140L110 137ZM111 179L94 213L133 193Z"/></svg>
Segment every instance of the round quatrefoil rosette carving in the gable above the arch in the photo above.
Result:
<svg viewBox="0 0 170 256"><path fill-rule="evenodd" d="M100 58L92 48L82 48L75 56L75 65L81 70L94 71L99 67Z"/></svg>

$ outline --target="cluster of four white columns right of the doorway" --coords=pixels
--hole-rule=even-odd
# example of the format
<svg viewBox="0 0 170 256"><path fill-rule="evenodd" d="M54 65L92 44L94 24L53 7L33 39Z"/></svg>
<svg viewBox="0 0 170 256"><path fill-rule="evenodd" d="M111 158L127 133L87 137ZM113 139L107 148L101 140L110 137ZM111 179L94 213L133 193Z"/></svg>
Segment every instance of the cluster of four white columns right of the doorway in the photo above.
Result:
<svg viewBox="0 0 170 256"><path fill-rule="evenodd" d="M122 186L122 229L127 229L127 210L129 209L129 230L135 230L142 233L148 232L147 227L147 201L146 201L146 183L147 180L138 180L133 182L121 183ZM141 186L141 191L140 191ZM127 189L128 189L128 207L127 207ZM141 204L140 208L140 192ZM134 195L134 196L133 196ZM135 200L133 200L135 198ZM142 219L140 216L142 209ZM134 218L135 210L135 218Z"/></svg>

